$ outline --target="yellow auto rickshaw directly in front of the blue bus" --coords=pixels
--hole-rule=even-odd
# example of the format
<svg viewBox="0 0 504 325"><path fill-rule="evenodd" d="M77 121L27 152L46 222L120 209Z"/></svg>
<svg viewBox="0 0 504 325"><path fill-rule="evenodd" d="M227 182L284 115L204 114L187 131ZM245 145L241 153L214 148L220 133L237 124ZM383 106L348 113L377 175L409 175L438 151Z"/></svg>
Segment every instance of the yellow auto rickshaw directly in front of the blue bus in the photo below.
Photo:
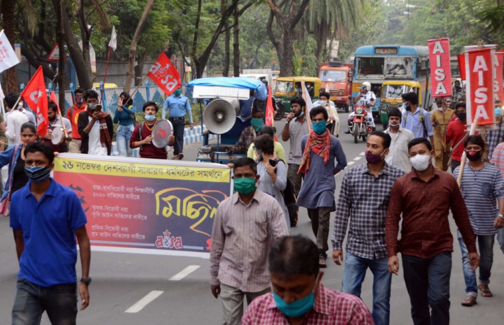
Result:
<svg viewBox="0 0 504 325"><path fill-rule="evenodd" d="M418 95L418 105L422 105L422 90L420 83L409 80L387 81L382 84L382 94L380 100L380 120L383 128L388 128L389 112L393 108L400 108L403 105L402 94L414 92Z"/></svg>

